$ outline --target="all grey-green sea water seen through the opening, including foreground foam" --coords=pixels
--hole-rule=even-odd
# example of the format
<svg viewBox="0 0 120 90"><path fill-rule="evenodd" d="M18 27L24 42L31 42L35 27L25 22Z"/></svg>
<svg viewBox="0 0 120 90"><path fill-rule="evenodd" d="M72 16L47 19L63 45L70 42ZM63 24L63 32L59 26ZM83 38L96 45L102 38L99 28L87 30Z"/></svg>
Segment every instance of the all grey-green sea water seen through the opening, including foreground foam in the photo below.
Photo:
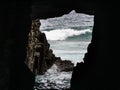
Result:
<svg viewBox="0 0 120 90"><path fill-rule="evenodd" d="M50 48L62 60L70 60L76 66L82 62L92 38L94 16L76 13L74 10L61 17L40 20L40 31L46 34ZM53 65L45 75L36 76L36 87L62 90L70 87L71 72L59 72Z"/></svg>

